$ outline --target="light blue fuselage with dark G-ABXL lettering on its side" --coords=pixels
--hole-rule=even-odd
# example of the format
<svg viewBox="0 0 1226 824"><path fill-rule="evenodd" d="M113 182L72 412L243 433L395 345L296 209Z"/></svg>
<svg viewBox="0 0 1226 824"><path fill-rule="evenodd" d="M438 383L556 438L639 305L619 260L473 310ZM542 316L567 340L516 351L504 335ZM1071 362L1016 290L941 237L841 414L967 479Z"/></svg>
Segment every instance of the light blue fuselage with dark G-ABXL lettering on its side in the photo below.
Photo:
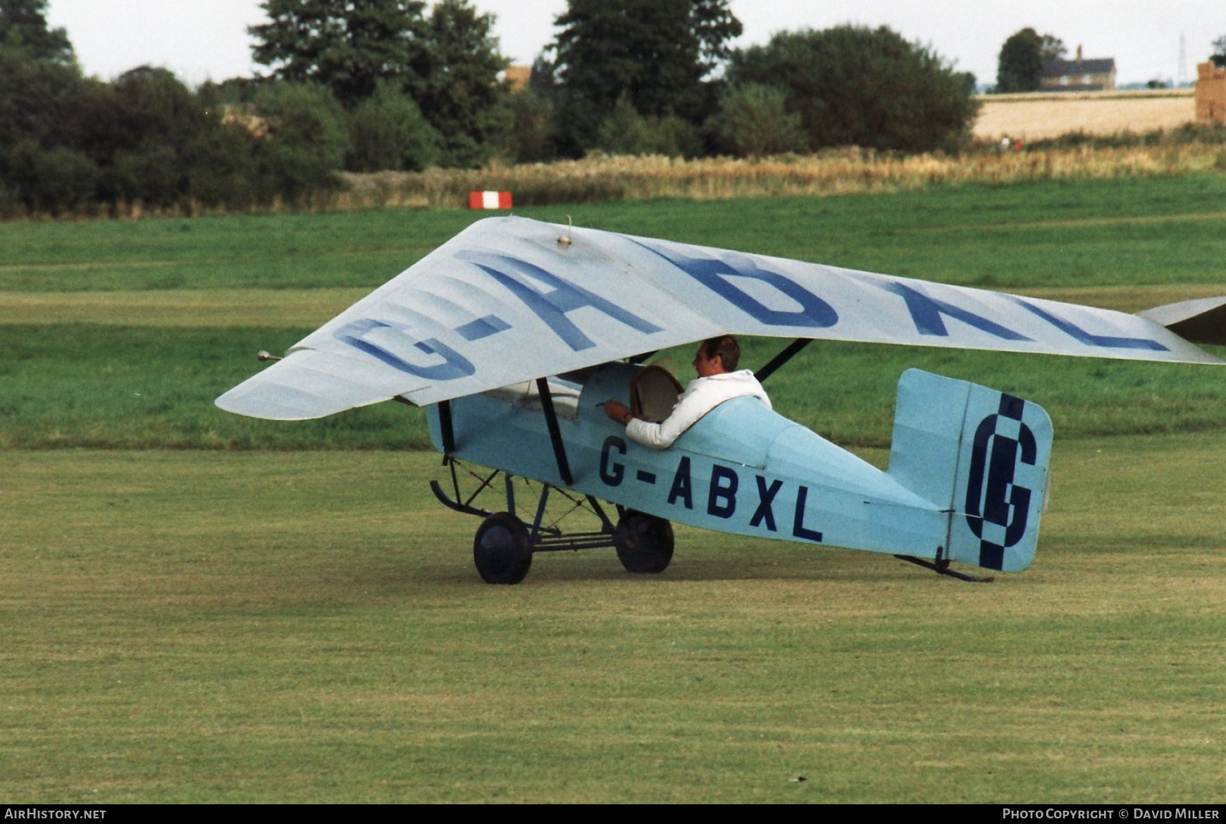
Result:
<svg viewBox="0 0 1226 824"><path fill-rule="evenodd" d="M607 364L558 399L569 484L531 394L452 400L451 454L721 532L927 558L946 543L948 510L750 397L716 407L668 449L631 441L600 405L625 401L638 370ZM436 407L429 425L443 451Z"/></svg>

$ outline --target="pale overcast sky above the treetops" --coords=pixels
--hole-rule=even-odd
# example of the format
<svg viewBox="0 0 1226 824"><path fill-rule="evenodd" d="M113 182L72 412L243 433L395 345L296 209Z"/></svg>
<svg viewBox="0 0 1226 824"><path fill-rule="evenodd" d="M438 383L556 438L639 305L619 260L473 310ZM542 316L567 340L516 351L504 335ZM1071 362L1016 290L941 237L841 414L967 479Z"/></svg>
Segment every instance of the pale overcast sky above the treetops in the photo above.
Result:
<svg viewBox="0 0 1226 824"><path fill-rule="evenodd" d="M497 16L503 53L528 64L553 39L565 0L474 0ZM1078 44L1086 58L1114 58L1117 82L1195 80L1197 63L1226 34L1226 0L731 0L745 33L736 45L765 43L782 29L840 23L889 26L931 45L980 83L996 82L1005 38L1030 26ZM86 74L103 80L150 64L195 86L253 76L246 27L265 21L259 0L50 0ZM1183 38L1184 61L1179 43Z"/></svg>

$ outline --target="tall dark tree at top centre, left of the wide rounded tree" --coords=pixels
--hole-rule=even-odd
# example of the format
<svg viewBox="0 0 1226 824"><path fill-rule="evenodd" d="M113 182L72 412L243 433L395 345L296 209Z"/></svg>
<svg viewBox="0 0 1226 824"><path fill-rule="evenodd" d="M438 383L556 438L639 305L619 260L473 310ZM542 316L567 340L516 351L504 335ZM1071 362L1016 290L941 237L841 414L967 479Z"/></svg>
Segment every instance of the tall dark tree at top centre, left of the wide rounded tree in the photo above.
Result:
<svg viewBox="0 0 1226 824"><path fill-rule="evenodd" d="M742 32L728 0L570 0L555 25L562 121L581 147L623 94L640 115L700 123L704 78Z"/></svg>

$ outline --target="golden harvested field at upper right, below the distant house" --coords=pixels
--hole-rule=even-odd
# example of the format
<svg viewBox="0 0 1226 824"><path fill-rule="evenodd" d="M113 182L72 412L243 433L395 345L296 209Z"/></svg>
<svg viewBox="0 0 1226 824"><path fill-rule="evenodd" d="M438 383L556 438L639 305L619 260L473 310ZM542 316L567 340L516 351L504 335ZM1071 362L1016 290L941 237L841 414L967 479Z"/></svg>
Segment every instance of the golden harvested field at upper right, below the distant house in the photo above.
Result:
<svg viewBox="0 0 1226 824"><path fill-rule="evenodd" d="M1114 135L1173 129L1195 119L1192 90L1160 92L1086 92L1068 94L991 94L975 121L981 140L1042 140L1070 131Z"/></svg>

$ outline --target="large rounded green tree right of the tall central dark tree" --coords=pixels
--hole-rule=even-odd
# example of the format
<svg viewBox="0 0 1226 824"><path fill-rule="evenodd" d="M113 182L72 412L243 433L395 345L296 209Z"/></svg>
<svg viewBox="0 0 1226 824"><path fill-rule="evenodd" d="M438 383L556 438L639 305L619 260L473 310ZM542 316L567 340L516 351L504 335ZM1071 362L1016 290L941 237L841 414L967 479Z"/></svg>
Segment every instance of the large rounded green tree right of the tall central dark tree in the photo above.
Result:
<svg viewBox="0 0 1226 824"><path fill-rule="evenodd" d="M955 151L978 108L973 75L884 26L780 32L736 53L728 77L782 90L809 150Z"/></svg>

